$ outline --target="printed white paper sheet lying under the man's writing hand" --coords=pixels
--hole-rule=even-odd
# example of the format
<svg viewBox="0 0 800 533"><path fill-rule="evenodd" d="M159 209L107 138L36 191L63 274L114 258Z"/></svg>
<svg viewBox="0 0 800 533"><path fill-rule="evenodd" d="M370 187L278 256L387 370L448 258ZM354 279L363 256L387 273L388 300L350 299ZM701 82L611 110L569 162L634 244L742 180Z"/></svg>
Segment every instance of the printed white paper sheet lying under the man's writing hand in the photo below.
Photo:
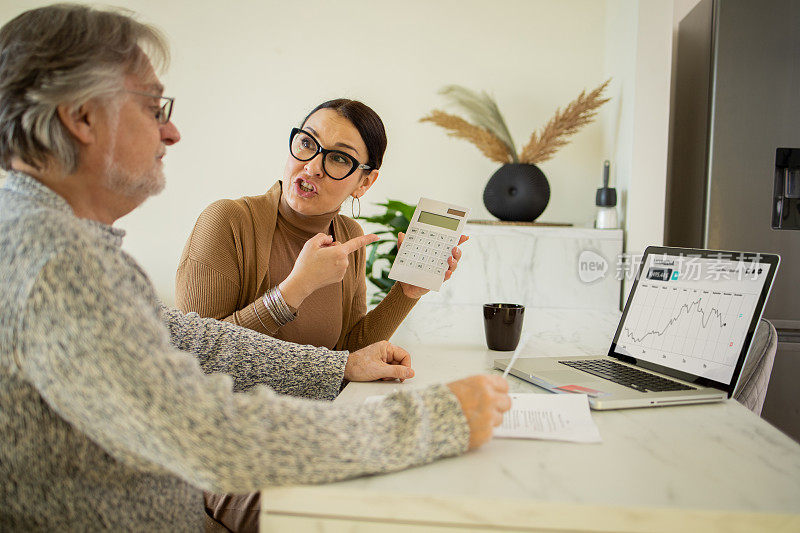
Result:
<svg viewBox="0 0 800 533"><path fill-rule="evenodd" d="M511 394L511 409L494 436L602 442L585 394Z"/></svg>

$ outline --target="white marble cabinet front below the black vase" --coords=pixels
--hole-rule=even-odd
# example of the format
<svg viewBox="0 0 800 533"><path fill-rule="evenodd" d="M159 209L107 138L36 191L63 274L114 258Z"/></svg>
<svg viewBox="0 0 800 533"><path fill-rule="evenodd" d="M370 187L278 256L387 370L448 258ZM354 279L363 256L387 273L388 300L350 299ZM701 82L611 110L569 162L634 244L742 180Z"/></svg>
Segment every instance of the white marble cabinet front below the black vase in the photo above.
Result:
<svg viewBox="0 0 800 533"><path fill-rule="evenodd" d="M468 223L453 277L425 301L618 310L622 230Z"/></svg>

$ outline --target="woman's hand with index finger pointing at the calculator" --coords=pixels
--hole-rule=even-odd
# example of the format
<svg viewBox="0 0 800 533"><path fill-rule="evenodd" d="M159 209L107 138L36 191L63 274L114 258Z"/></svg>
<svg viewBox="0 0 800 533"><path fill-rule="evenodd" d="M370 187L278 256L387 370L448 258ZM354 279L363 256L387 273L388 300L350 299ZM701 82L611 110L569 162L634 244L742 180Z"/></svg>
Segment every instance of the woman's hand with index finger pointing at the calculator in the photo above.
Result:
<svg viewBox="0 0 800 533"><path fill-rule="evenodd" d="M289 276L278 285L283 299L298 308L312 292L342 281L350 254L377 240L378 236L370 233L340 243L317 233L306 241Z"/></svg>

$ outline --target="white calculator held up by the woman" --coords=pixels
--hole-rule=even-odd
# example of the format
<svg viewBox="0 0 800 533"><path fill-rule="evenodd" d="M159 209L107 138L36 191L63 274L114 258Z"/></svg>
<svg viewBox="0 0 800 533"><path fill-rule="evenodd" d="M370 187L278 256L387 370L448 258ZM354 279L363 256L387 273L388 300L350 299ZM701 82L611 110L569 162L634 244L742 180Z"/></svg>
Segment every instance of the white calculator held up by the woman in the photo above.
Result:
<svg viewBox="0 0 800 533"><path fill-rule="evenodd" d="M420 198L389 279L438 291L468 215L466 207Z"/></svg>

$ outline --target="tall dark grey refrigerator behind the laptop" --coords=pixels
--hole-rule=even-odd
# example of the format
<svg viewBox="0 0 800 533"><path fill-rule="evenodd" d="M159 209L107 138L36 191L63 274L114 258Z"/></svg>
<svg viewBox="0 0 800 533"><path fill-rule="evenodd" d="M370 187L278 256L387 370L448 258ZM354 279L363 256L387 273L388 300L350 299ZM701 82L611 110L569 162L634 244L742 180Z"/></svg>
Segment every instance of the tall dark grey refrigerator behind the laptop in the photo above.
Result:
<svg viewBox="0 0 800 533"><path fill-rule="evenodd" d="M800 442L800 1L703 0L675 61L664 240L780 254L762 416Z"/></svg>

